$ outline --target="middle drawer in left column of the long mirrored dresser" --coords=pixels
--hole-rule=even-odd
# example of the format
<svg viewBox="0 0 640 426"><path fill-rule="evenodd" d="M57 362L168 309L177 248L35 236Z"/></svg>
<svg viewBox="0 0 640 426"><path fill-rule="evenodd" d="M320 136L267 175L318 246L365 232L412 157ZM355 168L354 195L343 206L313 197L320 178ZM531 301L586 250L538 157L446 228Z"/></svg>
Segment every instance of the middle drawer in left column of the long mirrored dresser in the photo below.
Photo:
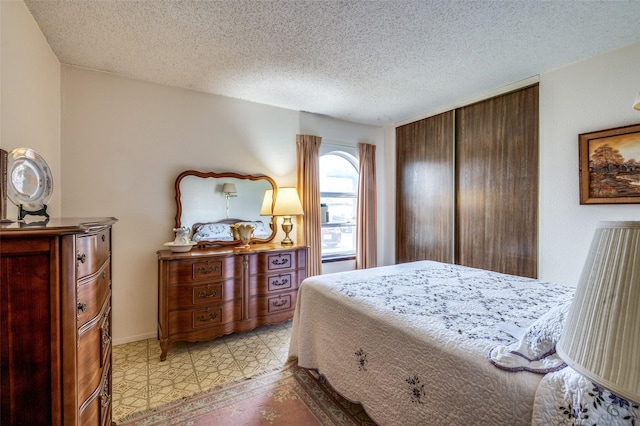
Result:
<svg viewBox="0 0 640 426"><path fill-rule="evenodd" d="M180 284L168 288L169 309L191 308L198 305L210 305L230 301L242 295L242 281L225 281Z"/></svg>

